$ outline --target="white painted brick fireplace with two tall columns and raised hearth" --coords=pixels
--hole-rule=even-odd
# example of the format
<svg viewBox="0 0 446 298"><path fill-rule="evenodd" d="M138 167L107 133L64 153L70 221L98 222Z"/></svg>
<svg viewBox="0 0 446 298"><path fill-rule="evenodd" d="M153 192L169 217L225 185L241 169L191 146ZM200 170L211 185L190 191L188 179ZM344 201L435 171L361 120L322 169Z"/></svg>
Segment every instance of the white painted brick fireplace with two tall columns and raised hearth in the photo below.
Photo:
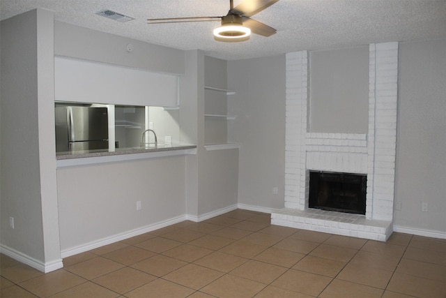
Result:
<svg viewBox="0 0 446 298"><path fill-rule="evenodd" d="M275 225L385 241L392 234L398 43L369 45L367 134L309 133L308 52L286 54L285 208ZM309 171L367 174L366 214L310 209Z"/></svg>

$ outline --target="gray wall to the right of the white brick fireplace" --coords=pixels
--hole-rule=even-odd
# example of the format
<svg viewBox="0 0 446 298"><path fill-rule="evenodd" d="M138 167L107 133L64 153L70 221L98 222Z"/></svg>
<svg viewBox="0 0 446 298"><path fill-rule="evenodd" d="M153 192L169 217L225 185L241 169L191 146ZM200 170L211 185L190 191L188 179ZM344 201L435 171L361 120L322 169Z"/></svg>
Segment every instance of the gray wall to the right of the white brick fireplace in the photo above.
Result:
<svg viewBox="0 0 446 298"><path fill-rule="evenodd" d="M446 233L446 40L401 43L394 223ZM422 202L429 211L422 212Z"/></svg>

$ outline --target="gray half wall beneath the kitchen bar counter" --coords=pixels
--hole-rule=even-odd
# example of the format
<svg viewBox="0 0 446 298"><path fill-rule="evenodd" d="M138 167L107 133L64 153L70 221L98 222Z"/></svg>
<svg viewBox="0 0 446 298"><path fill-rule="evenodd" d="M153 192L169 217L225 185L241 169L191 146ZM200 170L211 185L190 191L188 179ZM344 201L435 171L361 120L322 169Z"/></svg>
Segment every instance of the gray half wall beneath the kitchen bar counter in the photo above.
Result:
<svg viewBox="0 0 446 298"><path fill-rule="evenodd" d="M183 221L185 173L185 156L59 168L62 256Z"/></svg>

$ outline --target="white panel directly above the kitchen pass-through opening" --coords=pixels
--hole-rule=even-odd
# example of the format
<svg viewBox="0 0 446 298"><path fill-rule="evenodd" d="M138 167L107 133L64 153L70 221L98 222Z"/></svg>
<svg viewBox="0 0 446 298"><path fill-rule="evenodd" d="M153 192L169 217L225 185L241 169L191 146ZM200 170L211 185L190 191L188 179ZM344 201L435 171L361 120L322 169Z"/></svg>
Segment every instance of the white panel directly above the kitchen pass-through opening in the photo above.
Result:
<svg viewBox="0 0 446 298"><path fill-rule="evenodd" d="M126 105L178 105L178 77L112 64L54 58L56 100Z"/></svg>

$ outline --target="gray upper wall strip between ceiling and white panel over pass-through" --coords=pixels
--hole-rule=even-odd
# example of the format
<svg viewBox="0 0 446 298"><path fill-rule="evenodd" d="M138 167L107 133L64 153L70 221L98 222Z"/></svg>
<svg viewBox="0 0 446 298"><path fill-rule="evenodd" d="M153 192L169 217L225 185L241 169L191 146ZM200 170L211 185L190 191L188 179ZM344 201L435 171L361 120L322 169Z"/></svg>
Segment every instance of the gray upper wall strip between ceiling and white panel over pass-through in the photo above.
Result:
<svg viewBox="0 0 446 298"><path fill-rule="evenodd" d="M129 43L133 46L132 52L127 51ZM141 68L155 73L181 75L185 71L185 57L182 50L59 21L54 22L54 54Z"/></svg>

